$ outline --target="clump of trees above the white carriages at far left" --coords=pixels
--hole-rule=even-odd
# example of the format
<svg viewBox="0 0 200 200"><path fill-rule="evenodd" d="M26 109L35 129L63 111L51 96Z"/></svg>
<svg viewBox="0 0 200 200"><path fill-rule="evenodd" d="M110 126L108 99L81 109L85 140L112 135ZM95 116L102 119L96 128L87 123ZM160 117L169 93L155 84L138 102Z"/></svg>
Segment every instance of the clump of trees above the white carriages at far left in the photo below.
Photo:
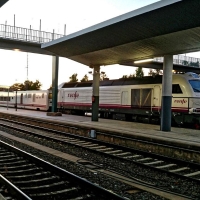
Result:
<svg viewBox="0 0 200 200"><path fill-rule="evenodd" d="M36 80L35 82L26 80L24 83L14 83L10 86L12 90L40 90L42 84Z"/></svg>

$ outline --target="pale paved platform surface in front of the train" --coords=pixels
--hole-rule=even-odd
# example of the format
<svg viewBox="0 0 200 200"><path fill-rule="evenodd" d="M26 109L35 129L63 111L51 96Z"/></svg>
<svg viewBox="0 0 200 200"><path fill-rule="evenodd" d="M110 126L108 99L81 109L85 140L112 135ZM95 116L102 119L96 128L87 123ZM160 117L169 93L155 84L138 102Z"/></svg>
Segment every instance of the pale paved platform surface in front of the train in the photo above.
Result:
<svg viewBox="0 0 200 200"><path fill-rule="evenodd" d="M51 122L62 122L79 125L88 130L109 131L124 137L148 138L150 141L160 141L180 144L180 146L200 147L200 130L172 127L170 132L160 131L159 125L126 122L99 118L98 122L91 121L91 117L62 114L62 116L47 116L47 112L12 108L0 108L1 113L45 119Z"/></svg>

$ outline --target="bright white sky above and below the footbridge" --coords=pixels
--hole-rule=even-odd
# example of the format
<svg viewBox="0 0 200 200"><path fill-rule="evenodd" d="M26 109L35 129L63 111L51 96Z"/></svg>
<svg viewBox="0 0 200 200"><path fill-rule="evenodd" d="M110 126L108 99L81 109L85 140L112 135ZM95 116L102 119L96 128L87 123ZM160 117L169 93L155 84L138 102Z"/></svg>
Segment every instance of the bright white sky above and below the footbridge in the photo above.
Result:
<svg viewBox="0 0 200 200"><path fill-rule="evenodd" d="M0 8L0 24L64 34L77 32L89 26L106 21L121 14L144 7L158 0L9 0ZM166 1L166 0L165 0ZM200 53L187 54L200 58ZM25 80L39 80L41 89L47 89L52 83L52 57L41 54L15 52L0 49L0 85L24 83ZM28 62L27 62L28 60ZM28 67L27 67L28 66ZM117 70L116 70L117 68ZM136 68L120 65L102 66L110 79L135 73ZM69 77L77 73L81 80L91 69L88 66L67 58L59 58L58 84L68 82ZM148 74L148 70L145 70Z"/></svg>

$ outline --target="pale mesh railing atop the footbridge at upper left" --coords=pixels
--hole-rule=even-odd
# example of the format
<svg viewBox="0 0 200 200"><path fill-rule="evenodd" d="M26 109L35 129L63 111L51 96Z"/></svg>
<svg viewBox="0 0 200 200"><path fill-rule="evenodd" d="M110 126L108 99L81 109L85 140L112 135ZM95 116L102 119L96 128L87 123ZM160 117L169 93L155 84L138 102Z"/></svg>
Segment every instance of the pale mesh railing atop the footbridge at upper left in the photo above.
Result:
<svg viewBox="0 0 200 200"><path fill-rule="evenodd" d="M25 42L45 43L63 37L64 35L40 30L21 28L0 24L0 38L20 40Z"/></svg>

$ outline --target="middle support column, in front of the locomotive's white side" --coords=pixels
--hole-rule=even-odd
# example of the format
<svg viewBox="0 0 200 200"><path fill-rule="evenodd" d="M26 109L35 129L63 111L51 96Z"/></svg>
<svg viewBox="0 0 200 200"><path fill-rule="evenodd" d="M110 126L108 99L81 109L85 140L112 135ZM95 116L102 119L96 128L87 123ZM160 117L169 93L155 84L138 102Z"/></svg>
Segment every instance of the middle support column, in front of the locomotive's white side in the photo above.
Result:
<svg viewBox="0 0 200 200"><path fill-rule="evenodd" d="M98 121L100 66L93 67L92 121Z"/></svg>

